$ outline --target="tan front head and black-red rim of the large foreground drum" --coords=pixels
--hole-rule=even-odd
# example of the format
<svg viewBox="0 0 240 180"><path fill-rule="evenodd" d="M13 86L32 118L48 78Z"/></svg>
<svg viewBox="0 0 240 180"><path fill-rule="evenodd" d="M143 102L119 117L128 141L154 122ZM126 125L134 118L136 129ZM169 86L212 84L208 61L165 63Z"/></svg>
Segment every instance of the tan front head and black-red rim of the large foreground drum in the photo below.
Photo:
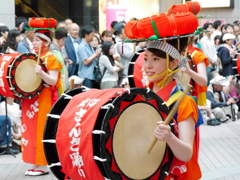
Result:
<svg viewBox="0 0 240 180"><path fill-rule="evenodd" d="M168 108L153 92L132 88L113 100L102 122L106 132L100 138L101 158L109 179L149 179L156 177L166 150L165 142L157 142L148 154L158 121L165 119ZM96 147L94 147L95 149Z"/></svg>

